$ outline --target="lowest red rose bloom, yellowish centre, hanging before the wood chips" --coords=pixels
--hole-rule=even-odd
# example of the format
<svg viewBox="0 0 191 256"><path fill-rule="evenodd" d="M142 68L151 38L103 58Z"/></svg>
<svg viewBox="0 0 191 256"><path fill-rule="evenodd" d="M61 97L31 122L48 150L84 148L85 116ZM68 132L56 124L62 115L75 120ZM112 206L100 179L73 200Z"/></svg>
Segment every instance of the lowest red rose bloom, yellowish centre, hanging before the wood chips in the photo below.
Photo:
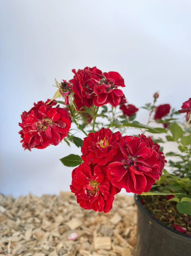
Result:
<svg viewBox="0 0 191 256"><path fill-rule="evenodd" d="M111 210L114 196L120 192L110 183L104 166L86 163L72 171L70 188L82 208L104 213Z"/></svg>

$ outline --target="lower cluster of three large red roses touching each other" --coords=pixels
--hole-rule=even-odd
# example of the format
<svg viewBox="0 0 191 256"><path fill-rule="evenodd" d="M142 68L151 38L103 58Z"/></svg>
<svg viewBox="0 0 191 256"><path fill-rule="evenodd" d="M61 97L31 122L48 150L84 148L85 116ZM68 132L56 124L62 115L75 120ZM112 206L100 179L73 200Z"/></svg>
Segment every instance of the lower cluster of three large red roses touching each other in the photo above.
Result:
<svg viewBox="0 0 191 256"><path fill-rule="evenodd" d="M151 137L122 136L101 128L84 138L82 160L72 171L71 191L85 209L111 210L114 196L148 192L162 174L165 157Z"/></svg>

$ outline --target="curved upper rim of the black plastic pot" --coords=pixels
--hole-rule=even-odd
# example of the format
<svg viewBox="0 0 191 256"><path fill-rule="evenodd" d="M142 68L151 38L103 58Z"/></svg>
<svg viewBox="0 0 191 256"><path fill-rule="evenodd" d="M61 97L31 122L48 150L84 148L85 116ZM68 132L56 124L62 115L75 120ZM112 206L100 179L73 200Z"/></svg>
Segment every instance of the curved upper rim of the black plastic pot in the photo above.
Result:
<svg viewBox="0 0 191 256"><path fill-rule="evenodd" d="M172 235L177 237L177 238L181 238L181 237L184 237L184 238L187 238L188 240L190 240L189 242L191 242L191 236L189 235L186 235L184 233L181 233L179 231L175 231L173 230L172 228L169 228L167 227L165 224L163 224L162 222L160 222L159 220L157 219L154 219L150 213L148 213L148 211L143 207L143 205L141 204L140 200L138 199L140 195L138 194L135 194L134 198L135 198L135 203L137 204L137 206L140 208L140 210L146 214L148 217L150 217L152 219L152 221L155 223L155 225L159 228L159 229L163 229L165 228L165 232L166 233L169 233L169 232L172 232Z"/></svg>

